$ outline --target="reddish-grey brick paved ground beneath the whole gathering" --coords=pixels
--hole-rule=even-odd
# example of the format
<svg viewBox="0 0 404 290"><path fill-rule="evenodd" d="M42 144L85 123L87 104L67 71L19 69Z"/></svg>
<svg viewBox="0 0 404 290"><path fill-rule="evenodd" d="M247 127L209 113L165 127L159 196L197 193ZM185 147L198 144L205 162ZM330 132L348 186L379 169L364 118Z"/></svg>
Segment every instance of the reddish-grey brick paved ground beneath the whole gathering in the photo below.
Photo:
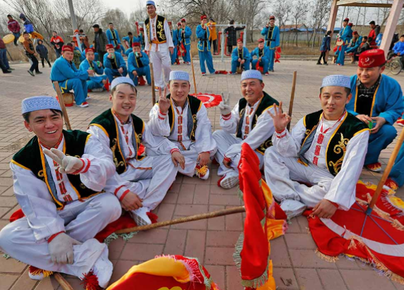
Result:
<svg viewBox="0 0 404 290"><path fill-rule="evenodd" d="M49 81L49 68L43 68L43 75L32 78L26 72L27 64L13 67L16 71L1 75L0 78L0 229L8 223L11 213L19 208L13 196L13 181L8 162L14 152L32 137L23 126L20 102L23 98L33 95L55 95ZM215 67L228 70L230 64L215 61ZM190 66L182 65L179 68L191 71ZM323 76L332 73L355 73L353 66L316 66L314 62L308 61L282 61L275 69L275 73L265 77L266 92L287 104L292 71L298 71L293 124L305 114L320 109L317 97ZM404 75L395 78L401 85L404 84ZM199 68L196 68L196 83L199 92L230 92L232 105L240 97L239 75L201 77ZM93 117L109 108L107 93L92 93L91 96L90 107L87 109L68 109L73 128L85 130ZM150 96L150 87L140 87L135 113L145 120L148 119L151 107ZM214 128L220 128L219 110L209 109L208 114ZM381 162L384 164L391 154L391 147L381 154ZM179 175L172 190L156 210L159 220L240 205L235 189L225 191L216 186L217 168L212 166L207 181ZM364 170L362 180L377 182L380 176ZM399 195L403 197L404 191ZM127 242L122 239L113 241L109 246L109 257L115 265L111 281L119 279L132 265L151 259L155 255L179 254L198 258L221 289L242 289L239 273L232 261L234 243L242 228L242 215L239 214L142 232ZM404 289L403 285L379 276L361 262L342 258L334 264L317 258L314 253L316 246L306 228L307 220L304 217L293 219L287 234L271 242L273 274L278 289ZM292 279L292 284L285 286L281 278ZM68 277L68 280L74 289L81 289L78 279ZM13 259L0 258L0 289L58 289L58 284L49 278L39 283L32 282L28 279L26 265Z"/></svg>

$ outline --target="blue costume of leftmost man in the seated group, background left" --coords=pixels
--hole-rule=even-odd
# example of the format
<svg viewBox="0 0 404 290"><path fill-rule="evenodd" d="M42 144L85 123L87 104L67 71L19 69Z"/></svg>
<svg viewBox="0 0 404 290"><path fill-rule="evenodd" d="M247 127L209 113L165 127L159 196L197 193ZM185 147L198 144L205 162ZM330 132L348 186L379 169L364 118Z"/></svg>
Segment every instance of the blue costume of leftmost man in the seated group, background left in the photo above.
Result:
<svg viewBox="0 0 404 290"><path fill-rule="evenodd" d="M62 94L64 92L74 91L74 100L76 104L83 104L87 97L87 71L78 71L73 62L66 61L61 56L52 66L50 79L57 81L60 85Z"/></svg>

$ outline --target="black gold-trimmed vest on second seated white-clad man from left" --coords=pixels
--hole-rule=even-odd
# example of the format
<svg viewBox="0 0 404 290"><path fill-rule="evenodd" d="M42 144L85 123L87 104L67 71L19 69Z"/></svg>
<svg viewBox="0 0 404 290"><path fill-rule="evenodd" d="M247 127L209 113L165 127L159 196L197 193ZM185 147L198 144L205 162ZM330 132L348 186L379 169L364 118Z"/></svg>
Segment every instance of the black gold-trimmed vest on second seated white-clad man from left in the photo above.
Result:
<svg viewBox="0 0 404 290"><path fill-rule="evenodd" d="M140 119L138 116L135 116L133 114L131 114L131 116L134 132L134 134L132 135L132 143L133 145L136 144L136 146L134 146L136 150L136 159L141 160L145 156L138 156L138 152L143 137L143 131L145 129L145 124L143 120ZM124 140L121 140L119 138L119 128L117 120L114 118L114 114L112 114L111 109L107 109L107 111L93 119L89 126L97 126L101 128L105 134L107 134L109 138L109 148L111 148L112 150L112 156L114 158L114 164L117 168L117 172L118 174L124 173L126 171L126 159L124 157L124 151L121 148L121 143L124 142Z"/></svg>

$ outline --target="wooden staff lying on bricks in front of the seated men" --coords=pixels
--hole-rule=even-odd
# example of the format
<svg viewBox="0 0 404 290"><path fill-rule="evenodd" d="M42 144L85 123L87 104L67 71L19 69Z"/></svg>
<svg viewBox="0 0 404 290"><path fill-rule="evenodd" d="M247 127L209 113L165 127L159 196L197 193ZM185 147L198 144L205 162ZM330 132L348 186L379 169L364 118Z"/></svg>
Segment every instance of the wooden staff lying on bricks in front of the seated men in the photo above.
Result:
<svg viewBox="0 0 404 290"><path fill-rule="evenodd" d="M404 130L403 130L404 131ZM201 215L191 215L189 217L179 217L178 219L172 219L170 221L165 222L156 222L155 224L148 224L146 226L135 226L130 229L120 229L119 231L115 231L115 234L128 234L132 231L145 231L147 229L156 229L162 226L170 226L171 224L182 224L184 222L194 222L199 219L211 219L213 217L222 217L223 215L233 215L238 214L240 212L245 212L244 206L242 207L232 207L226 210L217 210L215 212L206 212Z"/></svg>

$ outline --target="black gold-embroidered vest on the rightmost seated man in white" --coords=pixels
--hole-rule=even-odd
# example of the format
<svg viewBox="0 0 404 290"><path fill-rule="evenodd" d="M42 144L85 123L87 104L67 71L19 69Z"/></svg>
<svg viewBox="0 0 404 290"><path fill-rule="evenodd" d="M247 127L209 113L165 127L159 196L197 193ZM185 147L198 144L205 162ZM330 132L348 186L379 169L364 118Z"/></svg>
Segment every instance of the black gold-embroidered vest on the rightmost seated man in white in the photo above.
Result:
<svg viewBox="0 0 404 290"><path fill-rule="evenodd" d="M307 140L307 137L310 135L311 131L317 130L322 113L323 110L304 116L306 133L304 134L304 138L302 140L302 146L304 145L304 142ZM343 121L341 121L340 126L333 133L333 136L328 141L326 148L326 165L328 171L330 171L333 176L338 174L343 165L345 152L347 150L346 146L350 139L366 130L369 130L369 128L364 122L360 121L360 119L357 119L352 114L345 112Z"/></svg>

